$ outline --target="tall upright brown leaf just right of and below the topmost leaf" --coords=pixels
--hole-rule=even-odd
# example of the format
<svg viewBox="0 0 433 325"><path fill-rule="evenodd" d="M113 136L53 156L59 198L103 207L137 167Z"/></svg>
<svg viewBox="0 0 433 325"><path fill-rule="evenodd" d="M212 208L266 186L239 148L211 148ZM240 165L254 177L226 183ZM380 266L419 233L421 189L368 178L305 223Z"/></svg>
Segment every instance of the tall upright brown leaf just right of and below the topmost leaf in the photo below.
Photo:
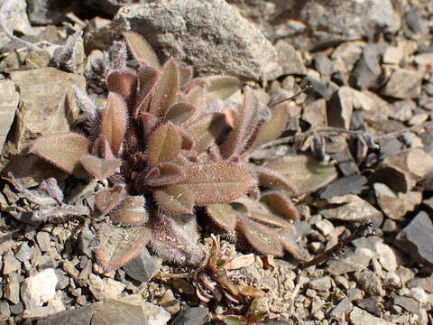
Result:
<svg viewBox="0 0 433 325"><path fill-rule="evenodd" d="M160 79L156 84L149 112L154 116L164 117L176 101L179 91L179 69L173 59L165 63Z"/></svg>

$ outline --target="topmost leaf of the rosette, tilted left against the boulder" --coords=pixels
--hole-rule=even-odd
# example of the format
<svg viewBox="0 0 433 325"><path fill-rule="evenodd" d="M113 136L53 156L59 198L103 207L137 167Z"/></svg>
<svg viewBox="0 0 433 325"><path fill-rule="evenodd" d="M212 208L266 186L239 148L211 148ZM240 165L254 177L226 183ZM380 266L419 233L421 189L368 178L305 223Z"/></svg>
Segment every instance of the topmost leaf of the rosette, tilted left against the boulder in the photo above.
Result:
<svg viewBox="0 0 433 325"><path fill-rule="evenodd" d="M160 61L153 51L151 45L143 39L143 36L136 32L124 32L124 40L128 44L129 51L134 56L135 60L140 61L142 64L151 66L159 70Z"/></svg>

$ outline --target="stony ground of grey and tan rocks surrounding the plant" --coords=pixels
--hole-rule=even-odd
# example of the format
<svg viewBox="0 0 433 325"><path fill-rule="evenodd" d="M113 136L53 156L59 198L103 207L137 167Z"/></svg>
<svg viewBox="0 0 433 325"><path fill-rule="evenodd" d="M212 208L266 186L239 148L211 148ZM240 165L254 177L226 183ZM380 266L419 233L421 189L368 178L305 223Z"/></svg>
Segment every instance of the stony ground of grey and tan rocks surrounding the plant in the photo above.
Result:
<svg viewBox="0 0 433 325"><path fill-rule="evenodd" d="M1 4L0 323L203 324L246 313L247 302L200 302L182 275L192 270L164 265L146 250L103 273L84 216L106 184L67 178L24 155L37 135L80 129L74 87L104 101L103 51L128 29L198 73L244 79L263 106L304 90L291 101L287 137L254 158L313 151L337 166L336 181L292 198L305 260L373 222L375 236L347 243L323 263L255 255L231 272L234 283L266 292L257 311L274 324L433 323L433 3L124 3ZM75 55L65 57L68 36L81 29ZM239 98L240 91L229 100ZM42 180L49 177L60 181L64 198L47 193ZM198 245L209 251L210 231L201 226ZM248 253L225 240L222 250L228 259Z"/></svg>

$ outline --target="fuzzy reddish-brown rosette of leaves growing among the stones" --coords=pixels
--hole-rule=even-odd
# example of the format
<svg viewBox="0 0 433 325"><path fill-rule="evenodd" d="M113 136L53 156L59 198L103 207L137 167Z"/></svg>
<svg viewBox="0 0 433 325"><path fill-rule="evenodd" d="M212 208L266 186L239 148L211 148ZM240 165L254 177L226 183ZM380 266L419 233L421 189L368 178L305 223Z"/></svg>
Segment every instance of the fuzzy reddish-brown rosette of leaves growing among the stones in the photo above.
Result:
<svg viewBox="0 0 433 325"><path fill-rule="evenodd" d="M109 217L99 224L99 264L116 269L144 246L165 260L198 264L203 253L185 230L185 220L194 227L202 217L198 207L260 253L296 254L287 234L298 212L288 195L301 191L280 162L248 162L284 130L288 105L274 107L265 121L252 88L244 88L238 109L221 100L240 88L238 79L192 78L192 68L176 60L161 65L140 35L124 38L134 65L127 65L126 44L115 42L106 107L77 93L88 135L42 135L30 147L63 171L110 184L96 194L97 209Z"/></svg>

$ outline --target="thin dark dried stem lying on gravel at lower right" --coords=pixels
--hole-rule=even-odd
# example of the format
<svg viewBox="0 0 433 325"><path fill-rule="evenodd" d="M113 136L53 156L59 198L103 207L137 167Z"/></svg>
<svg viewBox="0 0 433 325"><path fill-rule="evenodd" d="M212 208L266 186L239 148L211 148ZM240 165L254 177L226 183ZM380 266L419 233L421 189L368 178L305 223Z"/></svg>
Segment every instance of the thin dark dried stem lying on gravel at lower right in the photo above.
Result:
<svg viewBox="0 0 433 325"><path fill-rule="evenodd" d="M374 235L375 232L373 229L373 221L370 219L366 219L358 228L355 229L355 231L349 237L345 237L345 239L339 240L335 246L332 246L331 248L327 249L325 252L320 253L311 261L302 262L300 264L300 267L307 268L314 265L320 265L329 259L333 259L334 256L341 254L345 249L345 247L347 247L355 239L361 237L372 237Z"/></svg>

